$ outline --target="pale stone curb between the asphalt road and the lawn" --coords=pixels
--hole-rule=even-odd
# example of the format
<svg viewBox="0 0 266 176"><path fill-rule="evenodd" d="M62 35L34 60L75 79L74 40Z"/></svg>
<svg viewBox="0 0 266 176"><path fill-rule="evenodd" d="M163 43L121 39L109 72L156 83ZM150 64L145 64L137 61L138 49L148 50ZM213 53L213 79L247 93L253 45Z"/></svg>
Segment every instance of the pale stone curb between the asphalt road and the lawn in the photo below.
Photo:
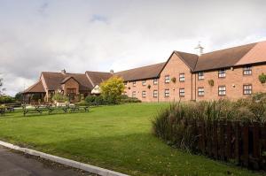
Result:
<svg viewBox="0 0 266 176"><path fill-rule="evenodd" d="M27 153L28 155L32 155L35 157L42 157L47 160L51 160L55 163L59 163L61 165L67 165L70 167L74 167L76 169L81 169L86 172L91 172L91 173L96 173L101 176L129 176L120 172L113 172L111 170L103 169L94 165L88 165L88 164L83 164L71 159L66 159L64 157L57 157L53 156L50 154L43 153L41 151L36 151L34 149L27 149L27 148L20 148L19 146L13 145L12 143L8 142L2 142L0 141L0 145L9 148L9 149L15 149L19 150L21 152Z"/></svg>

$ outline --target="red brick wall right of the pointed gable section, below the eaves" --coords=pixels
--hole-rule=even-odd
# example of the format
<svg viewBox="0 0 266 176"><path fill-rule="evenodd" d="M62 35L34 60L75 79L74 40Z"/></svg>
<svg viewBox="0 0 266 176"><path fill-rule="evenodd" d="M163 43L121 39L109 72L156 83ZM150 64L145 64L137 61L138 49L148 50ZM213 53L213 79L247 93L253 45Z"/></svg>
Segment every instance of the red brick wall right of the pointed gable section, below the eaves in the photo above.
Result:
<svg viewBox="0 0 266 176"><path fill-rule="evenodd" d="M265 73L266 65L252 66L251 75L243 75L243 67L226 70L225 78L218 78L218 71L204 73L204 80L198 80L198 73L195 74L196 79L196 99L199 100L217 100L220 98L238 99L245 97L243 95L243 85L252 84L253 92L266 92L266 86L263 86L258 77L261 73ZM214 80L214 86L208 84L208 80ZM218 86L226 86L226 96L218 96ZM205 96L198 96L198 88L204 88Z"/></svg>

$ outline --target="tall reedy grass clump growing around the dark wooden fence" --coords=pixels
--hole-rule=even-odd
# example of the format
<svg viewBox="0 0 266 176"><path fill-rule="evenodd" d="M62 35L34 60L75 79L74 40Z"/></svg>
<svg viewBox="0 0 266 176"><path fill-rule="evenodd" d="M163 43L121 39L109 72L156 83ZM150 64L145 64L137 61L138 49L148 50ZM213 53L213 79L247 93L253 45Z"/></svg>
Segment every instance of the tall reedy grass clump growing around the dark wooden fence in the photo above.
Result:
<svg viewBox="0 0 266 176"><path fill-rule="evenodd" d="M258 100L259 97L259 100ZM240 120L266 122L266 96L255 95L236 102L219 100L173 103L153 119L153 133L169 145L194 151L198 137L193 123L199 120Z"/></svg>

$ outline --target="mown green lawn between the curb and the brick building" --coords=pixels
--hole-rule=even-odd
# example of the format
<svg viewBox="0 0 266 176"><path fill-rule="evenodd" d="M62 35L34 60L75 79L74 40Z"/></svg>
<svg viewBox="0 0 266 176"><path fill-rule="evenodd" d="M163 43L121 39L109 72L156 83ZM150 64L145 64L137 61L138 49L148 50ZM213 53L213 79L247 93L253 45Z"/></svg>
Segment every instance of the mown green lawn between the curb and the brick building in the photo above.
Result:
<svg viewBox="0 0 266 176"><path fill-rule="evenodd" d="M151 119L165 106L123 104L26 118L16 112L0 117L0 139L130 175L260 175L172 149L154 137Z"/></svg>

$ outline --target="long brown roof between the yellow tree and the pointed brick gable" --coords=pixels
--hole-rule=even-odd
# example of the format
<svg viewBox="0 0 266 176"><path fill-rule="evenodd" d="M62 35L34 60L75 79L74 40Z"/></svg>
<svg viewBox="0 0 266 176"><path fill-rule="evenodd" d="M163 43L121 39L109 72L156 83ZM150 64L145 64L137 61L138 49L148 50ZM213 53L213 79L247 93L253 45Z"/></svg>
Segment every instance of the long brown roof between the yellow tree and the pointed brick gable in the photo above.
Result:
<svg viewBox="0 0 266 176"><path fill-rule="evenodd" d="M147 65L114 73L114 75L120 76L125 81L158 78L160 70L163 68L164 65L165 63L160 63L156 65Z"/></svg>

